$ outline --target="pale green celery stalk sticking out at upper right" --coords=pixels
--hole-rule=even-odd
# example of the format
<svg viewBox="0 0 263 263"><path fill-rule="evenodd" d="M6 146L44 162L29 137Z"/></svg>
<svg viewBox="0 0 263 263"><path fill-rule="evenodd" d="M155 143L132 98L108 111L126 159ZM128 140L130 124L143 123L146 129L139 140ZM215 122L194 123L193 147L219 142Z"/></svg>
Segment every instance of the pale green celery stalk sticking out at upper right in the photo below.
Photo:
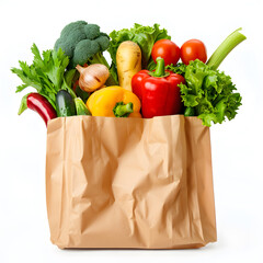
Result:
<svg viewBox="0 0 263 263"><path fill-rule="evenodd" d="M209 60L207 61L207 66L211 69L217 69L222 60L227 57L227 55L241 42L247 39L247 37L240 33L242 28L238 28L232 32L213 53Z"/></svg>

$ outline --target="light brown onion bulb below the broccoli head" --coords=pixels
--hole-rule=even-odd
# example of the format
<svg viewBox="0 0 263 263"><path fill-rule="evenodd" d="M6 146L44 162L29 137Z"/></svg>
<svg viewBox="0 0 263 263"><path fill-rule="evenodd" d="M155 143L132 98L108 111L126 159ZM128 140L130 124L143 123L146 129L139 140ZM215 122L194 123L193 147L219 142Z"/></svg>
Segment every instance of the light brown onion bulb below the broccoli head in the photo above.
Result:
<svg viewBox="0 0 263 263"><path fill-rule="evenodd" d="M80 72L79 87L87 92L102 88L110 76L107 67L102 64L92 64L87 68L77 65L76 68Z"/></svg>

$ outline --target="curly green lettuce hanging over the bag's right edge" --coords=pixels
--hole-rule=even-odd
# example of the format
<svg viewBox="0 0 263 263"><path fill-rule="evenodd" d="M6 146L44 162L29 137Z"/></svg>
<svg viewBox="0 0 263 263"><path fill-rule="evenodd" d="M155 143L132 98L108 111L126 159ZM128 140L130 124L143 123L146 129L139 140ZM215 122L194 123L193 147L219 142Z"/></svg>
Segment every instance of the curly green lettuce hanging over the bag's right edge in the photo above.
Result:
<svg viewBox="0 0 263 263"><path fill-rule="evenodd" d="M172 71L182 70L186 84L181 83L181 95L186 107L186 115L195 113L203 124L222 123L226 117L235 118L241 105L241 96L231 78L224 72L210 69L198 59L188 66L170 66Z"/></svg>

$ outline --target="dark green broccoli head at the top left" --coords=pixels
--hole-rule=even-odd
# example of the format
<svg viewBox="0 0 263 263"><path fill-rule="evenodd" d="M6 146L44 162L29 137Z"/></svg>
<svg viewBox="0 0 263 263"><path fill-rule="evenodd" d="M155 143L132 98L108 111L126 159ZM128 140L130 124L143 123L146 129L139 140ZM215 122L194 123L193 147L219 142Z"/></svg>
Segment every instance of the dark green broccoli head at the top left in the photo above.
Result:
<svg viewBox="0 0 263 263"><path fill-rule="evenodd" d="M102 53L107 49L110 37L100 32L96 24L88 24L85 21L72 22L64 27L60 37L55 43L55 50L59 47L69 57L69 68L83 64L104 64L108 68Z"/></svg>

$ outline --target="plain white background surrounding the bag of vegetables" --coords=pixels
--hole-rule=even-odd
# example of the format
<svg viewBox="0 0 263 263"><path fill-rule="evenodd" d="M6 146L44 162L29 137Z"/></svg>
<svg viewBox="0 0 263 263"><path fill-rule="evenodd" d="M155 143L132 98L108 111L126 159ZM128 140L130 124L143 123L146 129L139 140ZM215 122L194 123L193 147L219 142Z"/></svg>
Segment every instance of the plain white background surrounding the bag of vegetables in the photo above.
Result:
<svg viewBox="0 0 263 263"><path fill-rule="evenodd" d="M0 0L0 262L262 262L263 1ZM30 47L53 48L61 28L85 20L103 32L160 23L179 46L202 39L208 56L242 26L248 39L221 64L243 96L232 122L211 127L218 242L198 250L62 251L49 241L45 204L46 127L16 112L23 94L10 72ZM26 90L24 93L27 93Z"/></svg>

